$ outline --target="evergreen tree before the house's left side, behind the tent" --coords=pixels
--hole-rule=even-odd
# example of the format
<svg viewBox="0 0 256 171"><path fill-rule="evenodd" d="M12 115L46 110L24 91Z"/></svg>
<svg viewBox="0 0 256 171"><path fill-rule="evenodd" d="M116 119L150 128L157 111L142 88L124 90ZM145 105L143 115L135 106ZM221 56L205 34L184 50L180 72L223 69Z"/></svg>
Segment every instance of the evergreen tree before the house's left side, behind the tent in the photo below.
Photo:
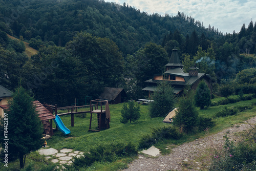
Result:
<svg viewBox="0 0 256 171"><path fill-rule="evenodd" d="M152 98L154 100L154 102L150 104L150 116L152 118L159 116L164 117L166 113L174 107L174 89L167 81L158 83Z"/></svg>

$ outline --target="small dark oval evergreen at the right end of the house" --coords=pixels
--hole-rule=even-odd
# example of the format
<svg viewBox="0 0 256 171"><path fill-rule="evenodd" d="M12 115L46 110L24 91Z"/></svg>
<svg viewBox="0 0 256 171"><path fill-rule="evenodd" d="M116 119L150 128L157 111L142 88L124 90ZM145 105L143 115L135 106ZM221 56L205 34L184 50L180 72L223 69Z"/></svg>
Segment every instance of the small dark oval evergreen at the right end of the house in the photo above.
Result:
<svg viewBox="0 0 256 171"><path fill-rule="evenodd" d="M210 105L210 90L205 81L201 81L198 84L195 101L196 106L200 107L200 109L204 109L205 106L208 107Z"/></svg>

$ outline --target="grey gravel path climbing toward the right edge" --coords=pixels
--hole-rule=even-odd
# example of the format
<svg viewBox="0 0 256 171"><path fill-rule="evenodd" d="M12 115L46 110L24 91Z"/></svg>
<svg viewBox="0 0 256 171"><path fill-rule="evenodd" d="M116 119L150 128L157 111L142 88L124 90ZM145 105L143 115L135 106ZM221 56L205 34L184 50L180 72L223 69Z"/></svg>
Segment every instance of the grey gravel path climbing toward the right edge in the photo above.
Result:
<svg viewBox="0 0 256 171"><path fill-rule="evenodd" d="M256 123L256 117L250 118L247 121L253 125ZM221 147L225 141L225 138L223 138L224 135L228 135L230 140L236 140L234 133L239 133L248 129L250 129L250 125L247 122L244 122L229 127L217 134L179 145L173 148L169 155L155 158L139 155L139 158L130 163L128 165L129 168L124 170L205 170L203 168L203 161L198 159L201 155L208 153L207 149L213 146Z"/></svg>

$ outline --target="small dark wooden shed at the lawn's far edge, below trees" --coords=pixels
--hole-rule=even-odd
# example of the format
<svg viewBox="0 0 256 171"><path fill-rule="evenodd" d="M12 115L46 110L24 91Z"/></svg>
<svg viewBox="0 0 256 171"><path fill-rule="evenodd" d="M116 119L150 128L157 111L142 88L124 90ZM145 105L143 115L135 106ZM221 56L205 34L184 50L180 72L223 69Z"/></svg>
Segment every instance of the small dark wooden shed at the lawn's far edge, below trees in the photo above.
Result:
<svg viewBox="0 0 256 171"><path fill-rule="evenodd" d="M127 95L123 89L105 87L99 99L108 100L110 104L118 104L124 102L125 97Z"/></svg>

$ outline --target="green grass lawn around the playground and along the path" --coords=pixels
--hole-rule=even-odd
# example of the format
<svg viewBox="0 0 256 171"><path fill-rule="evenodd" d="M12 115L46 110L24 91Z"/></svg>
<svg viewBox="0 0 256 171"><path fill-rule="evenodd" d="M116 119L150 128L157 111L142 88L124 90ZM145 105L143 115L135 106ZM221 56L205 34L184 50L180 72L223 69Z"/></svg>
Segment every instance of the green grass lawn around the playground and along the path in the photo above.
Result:
<svg viewBox="0 0 256 171"><path fill-rule="evenodd" d="M232 98L234 98L233 96ZM223 97L212 99L212 101L218 101L223 99ZM252 102L256 102L256 99L240 101L236 103L226 104L226 105L218 105L218 106L210 106L208 109L200 110L199 115L204 117L212 118L217 112L224 109L225 106L242 106L242 105L251 105ZM163 117L151 118L148 113L147 105L140 105L141 110L141 118L135 123L126 123L123 124L120 122L121 118L121 109L123 104L115 104L110 105L110 113L111 113L111 123L110 129L103 130L101 132L88 132L89 130L89 122L90 122L90 114L87 114L85 118L74 117L74 127L71 126L71 117L60 116L62 122L66 125L68 129L71 131L71 135L63 135L60 131L54 132L54 136L47 141L50 147L56 149L62 148L73 148L75 150L88 152L89 148L105 142L132 142L136 146L139 144L139 140L143 135L150 134L151 129L154 127L167 126L168 123L163 123ZM251 110L247 110L244 112L240 112L234 116L228 116L225 118L214 118L216 121L216 125L212 127L209 132L217 133L226 127L233 126L237 123L242 123L243 121L256 116L256 108L254 107ZM96 118L96 115L94 116ZM55 127L55 124L53 125ZM164 140L156 144L162 151L162 154L170 153L171 149L165 149L169 144L181 144L188 141L193 141L199 137L205 136L204 132L187 135L184 136L180 140ZM32 155L34 155L32 153ZM35 155L34 155L35 156ZM37 158L40 158L37 156ZM113 163L106 162L98 162L93 164L88 168L84 168L82 170L118 170L119 168L125 168L127 163L134 160L134 157L131 158L123 158L117 160ZM18 161L12 162L12 164L18 163ZM17 164L16 164L17 165Z"/></svg>

